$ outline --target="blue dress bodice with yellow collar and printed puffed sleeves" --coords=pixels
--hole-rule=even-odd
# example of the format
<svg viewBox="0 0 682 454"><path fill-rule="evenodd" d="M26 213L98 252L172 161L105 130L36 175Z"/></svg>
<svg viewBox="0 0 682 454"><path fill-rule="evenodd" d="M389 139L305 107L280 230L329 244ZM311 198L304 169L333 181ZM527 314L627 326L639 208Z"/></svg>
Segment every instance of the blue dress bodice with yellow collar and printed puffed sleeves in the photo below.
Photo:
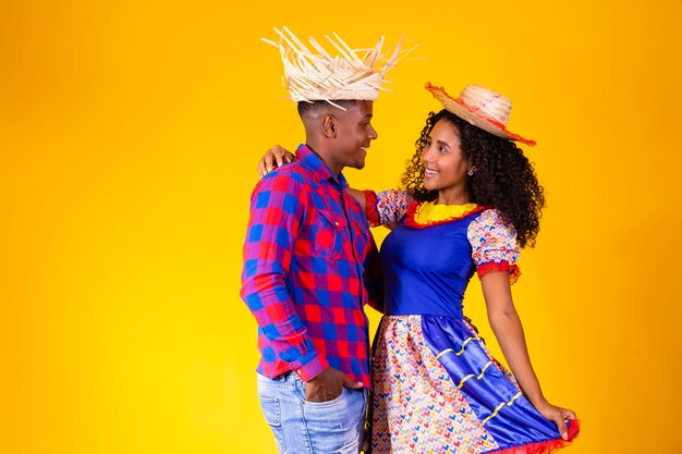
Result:
<svg viewBox="0 0 682 454"><path fill-rule="evenodd" d="M392 228L381 246L386 315L462 318L474 272L508 270L516 280L515 232L499 212L475 204L392 204L395 194L404 193L380 193L377 203L378 221Z"/></svg>

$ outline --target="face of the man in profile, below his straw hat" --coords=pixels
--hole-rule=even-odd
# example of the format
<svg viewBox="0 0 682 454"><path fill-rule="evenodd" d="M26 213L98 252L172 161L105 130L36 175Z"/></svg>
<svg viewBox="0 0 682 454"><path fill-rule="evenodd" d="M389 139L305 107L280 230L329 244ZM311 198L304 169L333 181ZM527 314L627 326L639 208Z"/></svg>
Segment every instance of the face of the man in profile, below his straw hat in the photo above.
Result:
<svg viewBox="0 0 682 454"><path fill-rule="evenodd" d="M334 167L362 169L372 140L377 132L372 126L373 101L349 103L345 111L337 109L333 114L334 132L333 155Z"/></svg>

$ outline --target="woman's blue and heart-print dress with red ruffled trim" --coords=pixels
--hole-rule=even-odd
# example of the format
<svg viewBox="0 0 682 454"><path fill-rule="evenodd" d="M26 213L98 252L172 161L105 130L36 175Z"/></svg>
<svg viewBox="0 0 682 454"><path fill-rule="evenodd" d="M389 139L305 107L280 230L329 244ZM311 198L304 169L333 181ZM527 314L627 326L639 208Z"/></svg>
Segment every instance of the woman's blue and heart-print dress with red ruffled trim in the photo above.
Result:
<svg viewBox="0 0 682 454"><path fill-rule="evenodd" d="M373 453L549 453L568 444L462 311L475 272L508 270L512 282L517 278L513 228L475 205L435 212L438 206L412 203L402 216L407 203L391 207L395 197L404 193L381 193L377 205L393 230L381 246L386 292L373 355ZM576 433L571 424L570 437Z"/></svg>

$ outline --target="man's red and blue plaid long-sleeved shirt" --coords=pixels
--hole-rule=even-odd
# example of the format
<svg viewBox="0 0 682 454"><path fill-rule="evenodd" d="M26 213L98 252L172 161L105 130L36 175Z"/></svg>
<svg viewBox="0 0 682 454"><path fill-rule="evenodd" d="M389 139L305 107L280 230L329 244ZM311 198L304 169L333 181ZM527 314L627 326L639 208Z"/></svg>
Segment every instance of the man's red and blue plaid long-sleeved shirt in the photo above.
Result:
<svg viewBox="0 0 682 454"><path fill-rule="evenodd" d="M369 388L363 306L380 298L377 247L344 176L306 146L296 155L251 199L241 296L258 323L257 370L308 381L331 366Z"/></svg>

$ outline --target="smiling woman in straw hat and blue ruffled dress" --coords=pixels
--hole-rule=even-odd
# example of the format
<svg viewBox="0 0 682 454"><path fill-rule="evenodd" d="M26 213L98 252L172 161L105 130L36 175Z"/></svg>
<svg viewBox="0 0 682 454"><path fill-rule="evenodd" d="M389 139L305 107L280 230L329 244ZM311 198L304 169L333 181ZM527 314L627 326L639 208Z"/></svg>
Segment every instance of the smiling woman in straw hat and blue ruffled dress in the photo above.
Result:
<svg viewBox="0 0 682 454"><path fill-rule="evenodd" d="M520 247L545 204L532 164L506 128L511 103L470 85L426 87L430 113L402 177L406 191L358 195L381 245L385 316L374 346L373 452L548 453L579 431L547 402L511 296ZM474 272L513 372L488 353L462 311Z"/></svg>

